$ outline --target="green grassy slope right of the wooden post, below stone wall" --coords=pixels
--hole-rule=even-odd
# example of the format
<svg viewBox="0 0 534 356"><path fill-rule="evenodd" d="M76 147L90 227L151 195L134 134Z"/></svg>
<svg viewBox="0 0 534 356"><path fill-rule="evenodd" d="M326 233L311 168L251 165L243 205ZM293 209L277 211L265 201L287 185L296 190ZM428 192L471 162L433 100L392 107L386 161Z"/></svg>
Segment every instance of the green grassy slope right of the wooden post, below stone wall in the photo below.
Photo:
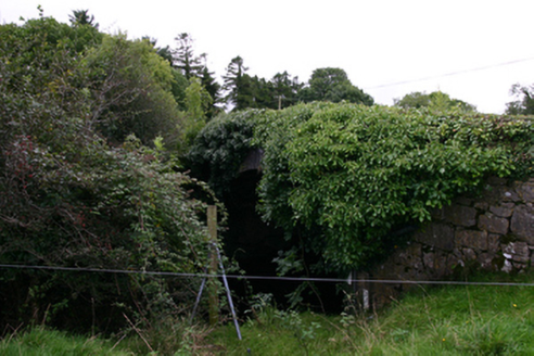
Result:
<svg viewBox="0 0 534 356"><path fill-rule="evenodd" d="M534 287L433 288L380 313L297 317L291 327L264 308L243 325L243 341L227 326L211 342L227 355L534 355Z"/></svg>

